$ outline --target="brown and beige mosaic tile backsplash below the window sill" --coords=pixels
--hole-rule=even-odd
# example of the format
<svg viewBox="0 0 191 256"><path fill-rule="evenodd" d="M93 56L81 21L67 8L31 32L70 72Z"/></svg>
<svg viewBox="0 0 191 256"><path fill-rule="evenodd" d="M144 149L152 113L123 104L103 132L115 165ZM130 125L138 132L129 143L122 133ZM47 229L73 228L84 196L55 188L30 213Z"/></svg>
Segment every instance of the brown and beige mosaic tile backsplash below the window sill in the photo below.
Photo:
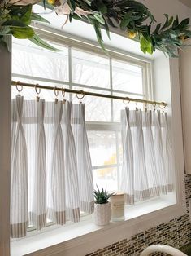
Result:
<svg viewBox="0 0 191 256"><path fill-rule="evenodd" d="M185 190L187 201L187 214L180 218L172 219L169 223L163 223L141 232L131 239L118 241L103 249L99 249L85 256L139 256L143 249L149 245L165 244L177 249L191 242L191 223L189 222L189 198L191 198L191 175L185 175ZM152 254L166 255L166 254Z"/></svg>

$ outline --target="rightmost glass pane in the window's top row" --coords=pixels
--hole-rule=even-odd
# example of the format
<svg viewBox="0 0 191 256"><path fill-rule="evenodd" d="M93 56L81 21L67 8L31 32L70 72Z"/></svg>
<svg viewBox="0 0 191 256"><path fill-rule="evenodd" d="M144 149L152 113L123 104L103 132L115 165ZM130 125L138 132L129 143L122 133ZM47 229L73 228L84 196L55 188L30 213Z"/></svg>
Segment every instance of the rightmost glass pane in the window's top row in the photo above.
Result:
<svg viewBox="0 0 191 256"><path fill-rule="evenodd" d="M142 94L142 68L112 60L112 81L114 90Z"/></svg>

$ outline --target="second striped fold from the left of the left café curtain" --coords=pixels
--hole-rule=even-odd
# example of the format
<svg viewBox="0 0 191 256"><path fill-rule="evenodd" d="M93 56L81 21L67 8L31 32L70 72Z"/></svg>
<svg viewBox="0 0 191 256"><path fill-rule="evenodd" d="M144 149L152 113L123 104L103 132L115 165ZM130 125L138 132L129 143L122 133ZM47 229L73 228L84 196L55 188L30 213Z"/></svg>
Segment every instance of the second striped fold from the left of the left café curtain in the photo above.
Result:
<svg viewBox="0 0 191 256"><path fill-rule="evenodd" d="M28 152L28 224L46 226L45 100L24 101L23 126Z"/></svg>

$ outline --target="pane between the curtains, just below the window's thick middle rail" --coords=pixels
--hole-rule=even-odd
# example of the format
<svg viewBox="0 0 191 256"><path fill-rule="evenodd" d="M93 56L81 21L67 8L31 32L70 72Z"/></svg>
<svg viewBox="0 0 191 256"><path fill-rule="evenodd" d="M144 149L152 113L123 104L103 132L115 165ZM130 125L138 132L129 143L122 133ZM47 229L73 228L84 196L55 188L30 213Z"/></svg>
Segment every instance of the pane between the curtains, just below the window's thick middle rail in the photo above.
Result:
<svg viewBox="0 0 191 256"><path fill-rule="evenodd" d="M115 132L89 130L88 139L93 166L116 164Z"/></svg>

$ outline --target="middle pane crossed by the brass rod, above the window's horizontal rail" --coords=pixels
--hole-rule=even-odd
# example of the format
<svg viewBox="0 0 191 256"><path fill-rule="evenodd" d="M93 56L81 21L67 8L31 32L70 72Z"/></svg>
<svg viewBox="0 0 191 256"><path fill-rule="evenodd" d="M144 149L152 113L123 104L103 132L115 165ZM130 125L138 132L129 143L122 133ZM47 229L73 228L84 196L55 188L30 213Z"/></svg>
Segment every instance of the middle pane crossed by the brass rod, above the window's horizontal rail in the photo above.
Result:
<svg viewBox="0 0 191 256"><path fill-rule="evenodd" d="M72 86L74 90L91 91L98 94L110 94L110 92L102 90L93 90L83 87ZM72 95L72 101L79 102L76 95ZM111 99L85 95L81 100L85 103L85 121L111 121Z"/></svg>

